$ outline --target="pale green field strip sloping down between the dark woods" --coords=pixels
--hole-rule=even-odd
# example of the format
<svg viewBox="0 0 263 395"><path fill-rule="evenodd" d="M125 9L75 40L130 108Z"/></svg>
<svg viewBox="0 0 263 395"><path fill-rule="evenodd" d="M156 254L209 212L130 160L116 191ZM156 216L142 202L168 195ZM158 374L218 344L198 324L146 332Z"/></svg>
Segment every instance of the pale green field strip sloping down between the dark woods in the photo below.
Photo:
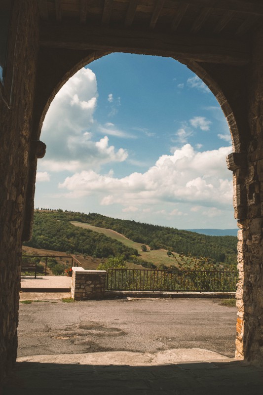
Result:
<svg viewBox="0 0 263 395"><path fill-rule="evenodd" d="M143 252L141 248L141 243L136 243L135 241L132 241L125 236L121 235L120 233L117 233L111 229L106 229L106 228L99 228L97 226L89 225L89 224L83 224L82 222L77 222L77 221L72 221L72 225L78 226L80 228L84 229L90 229L93 232L98 232L98 233L103 233L107 237L112 237L123 244L125 244L127 247L135 248L137 249L138 253L140 254L140 257L142 259L147 260L148 262L152 262L154 265L159 266L160 264L164 264L166 266L171 266L171 265L176 265L176 262L173 258L169 258L167 255L167 250L164 250L160 248L159 250L151 250L149 245L147 245L148 251ZM175 253L176 256L178 254Z"/></svg>

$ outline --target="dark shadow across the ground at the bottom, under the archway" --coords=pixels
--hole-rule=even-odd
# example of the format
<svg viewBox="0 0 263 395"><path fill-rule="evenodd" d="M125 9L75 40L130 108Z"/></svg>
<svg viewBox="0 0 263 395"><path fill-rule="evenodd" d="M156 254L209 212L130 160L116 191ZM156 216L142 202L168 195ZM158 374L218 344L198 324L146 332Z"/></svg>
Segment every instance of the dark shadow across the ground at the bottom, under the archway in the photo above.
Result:
<svg viewBox="0 0 263 395"><path fill-rule="evenodd" d="M17 362L2 395L262 395L263 369L243 361L159 366Z"/></svg>

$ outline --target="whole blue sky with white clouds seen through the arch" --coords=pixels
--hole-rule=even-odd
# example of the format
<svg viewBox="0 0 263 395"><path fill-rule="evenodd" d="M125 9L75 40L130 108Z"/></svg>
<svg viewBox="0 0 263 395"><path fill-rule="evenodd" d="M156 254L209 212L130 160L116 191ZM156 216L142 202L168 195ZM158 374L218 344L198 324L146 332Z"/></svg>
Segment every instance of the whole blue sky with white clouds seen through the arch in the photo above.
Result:
<svg viewBox="0 0 263 395"><path fill-rule="evenodd" d="M214 95L186 66L113 53L80 70L45 117L35 207L179 229L235 228L231 139Z"/></svg>

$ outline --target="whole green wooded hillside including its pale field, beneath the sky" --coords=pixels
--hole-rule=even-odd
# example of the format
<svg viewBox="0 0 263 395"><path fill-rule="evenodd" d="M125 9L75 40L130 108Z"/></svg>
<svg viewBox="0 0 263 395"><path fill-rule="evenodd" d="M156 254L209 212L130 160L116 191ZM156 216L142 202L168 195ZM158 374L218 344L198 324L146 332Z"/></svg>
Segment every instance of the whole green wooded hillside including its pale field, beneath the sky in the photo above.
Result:
<svg viewBox="0 0 263 395"><path fill-rule="evenodd" d="M73 221L77 227L70 223ZM160 264L173 266L172 258L181 260L181 257L190 254L197 258L207 257L214 268L220 269L222 265L227 268L236 265L237 237L206 236L96 213L64 212L59 209L35 212L33 237L25 245L88 254L94 258L123 255L125 260L144 264L145 267ZM135 262L139 253L142 260Z"/></svg>

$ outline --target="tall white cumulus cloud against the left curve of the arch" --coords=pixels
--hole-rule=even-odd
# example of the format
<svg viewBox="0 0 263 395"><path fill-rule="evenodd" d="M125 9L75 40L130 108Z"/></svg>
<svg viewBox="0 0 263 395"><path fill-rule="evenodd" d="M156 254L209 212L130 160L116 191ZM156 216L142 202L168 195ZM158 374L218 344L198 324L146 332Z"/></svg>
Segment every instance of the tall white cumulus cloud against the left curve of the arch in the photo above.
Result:
<svg viewBox="0 0 263 395"><path fill-rule="evenodd" d="M39 161L41 170L79 171L110 162L122 162L126 150L110 145L108 135L126 137L113 123L99 125L93 118L98 98L97 81L90 69L79 70L60 89L43 122L41 139L47 145L46 156ZM111 94L109 101L111 102ZM96 134L104 134L99 139Z"/></svg>

